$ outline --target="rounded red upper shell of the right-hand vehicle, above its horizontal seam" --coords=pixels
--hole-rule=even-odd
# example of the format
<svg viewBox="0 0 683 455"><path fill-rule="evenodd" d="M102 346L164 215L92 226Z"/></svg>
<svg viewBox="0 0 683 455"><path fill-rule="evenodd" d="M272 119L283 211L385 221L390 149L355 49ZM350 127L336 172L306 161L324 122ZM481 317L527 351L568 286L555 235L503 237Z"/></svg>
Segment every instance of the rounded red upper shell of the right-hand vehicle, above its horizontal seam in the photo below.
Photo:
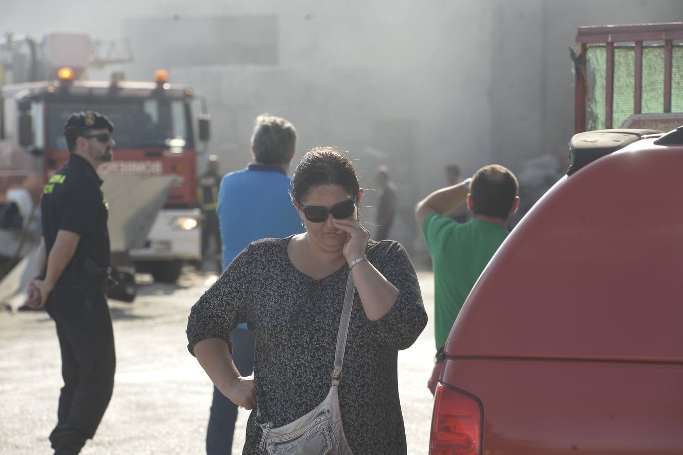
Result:
<svg viewBox="0 0 683 455"><path fill-rule="evenodd" d="M683 145L658 139L535 204L477 281L447 355L683 361Z"/></svg>

